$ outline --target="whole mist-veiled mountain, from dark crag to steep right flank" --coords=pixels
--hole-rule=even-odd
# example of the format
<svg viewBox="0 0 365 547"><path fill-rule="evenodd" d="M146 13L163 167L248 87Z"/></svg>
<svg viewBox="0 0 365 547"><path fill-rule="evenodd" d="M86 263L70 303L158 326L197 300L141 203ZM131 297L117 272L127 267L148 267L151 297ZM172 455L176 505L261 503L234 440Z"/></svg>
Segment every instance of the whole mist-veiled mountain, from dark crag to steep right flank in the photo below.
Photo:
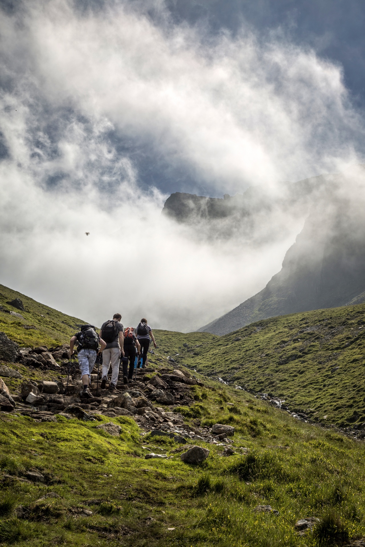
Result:
<svg viewBox="0 0 365 547"><path fill-rule="evenodd" d="M199 331L223 335L259 319L365 301L363 183L360 166L345 174L288 184L286 196L275 199L254 188L223 200L172 194L164 214L196 225L204 219L216 233L222 232L222 219L228 232L227 226L237 230L240 218L247 237L262 216L268 226L275 211L292 215L303 213L305 207L309 211L281 271L264 289ZM268 232L268 238L274 236L278 236L277 226Z"/></svg>

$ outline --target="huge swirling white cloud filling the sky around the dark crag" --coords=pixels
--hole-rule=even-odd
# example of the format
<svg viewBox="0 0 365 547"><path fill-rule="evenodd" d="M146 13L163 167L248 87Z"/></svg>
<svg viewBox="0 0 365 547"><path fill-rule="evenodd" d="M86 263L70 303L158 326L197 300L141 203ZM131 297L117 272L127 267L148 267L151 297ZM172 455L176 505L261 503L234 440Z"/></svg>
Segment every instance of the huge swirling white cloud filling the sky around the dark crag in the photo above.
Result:
<svg viewBox="0 0 365 547"><path fill-rule="evenodd" d="M150 5L158 23L128 2L3 14L0 272L97 324L120 309L127 323L193 330L280 269L305 210L263 219L260 231L286 225L270 245L207 241L161 216L159 179L277 193L357 161L363 121L340 67L314 51L245 28L203 40Z"/></svg>

